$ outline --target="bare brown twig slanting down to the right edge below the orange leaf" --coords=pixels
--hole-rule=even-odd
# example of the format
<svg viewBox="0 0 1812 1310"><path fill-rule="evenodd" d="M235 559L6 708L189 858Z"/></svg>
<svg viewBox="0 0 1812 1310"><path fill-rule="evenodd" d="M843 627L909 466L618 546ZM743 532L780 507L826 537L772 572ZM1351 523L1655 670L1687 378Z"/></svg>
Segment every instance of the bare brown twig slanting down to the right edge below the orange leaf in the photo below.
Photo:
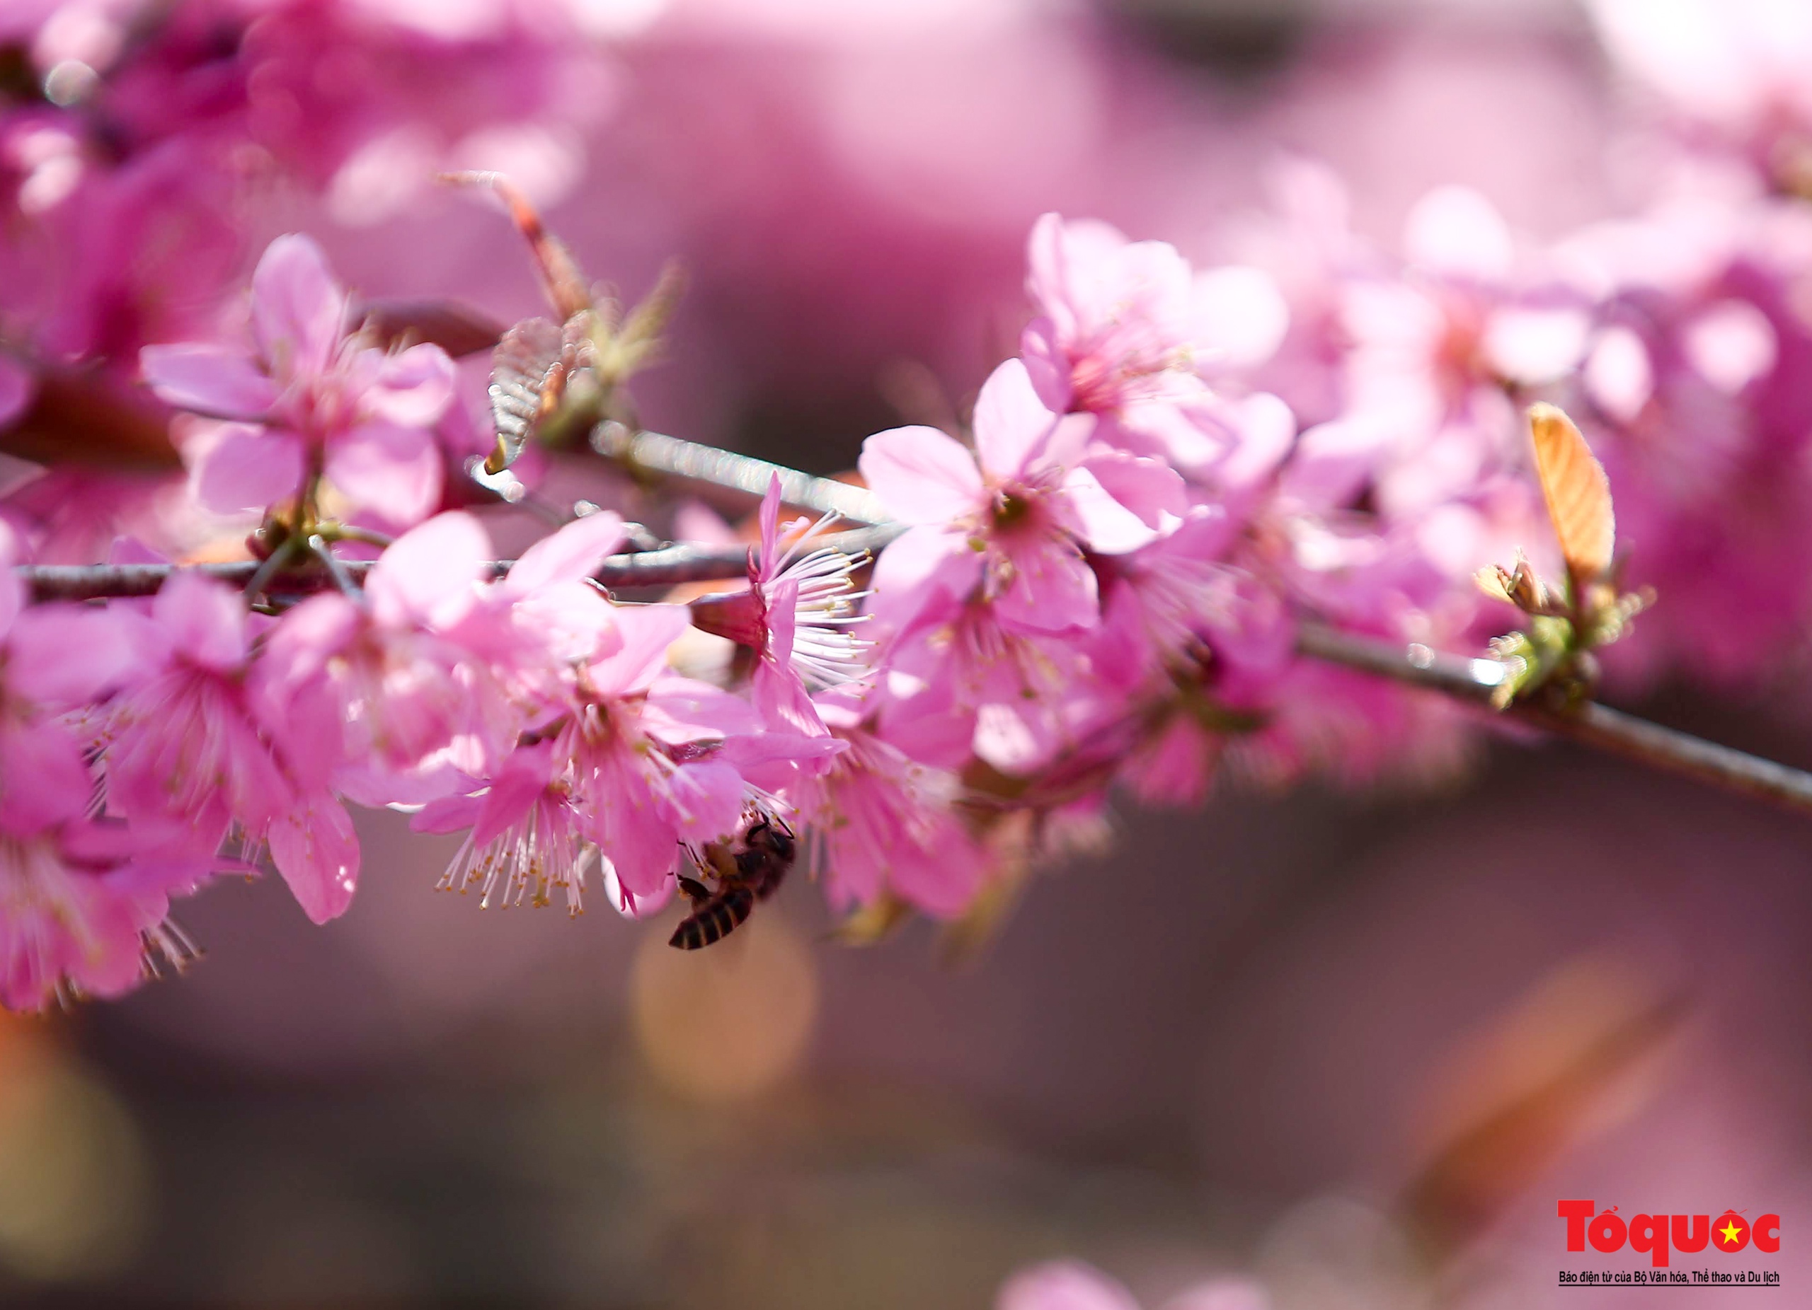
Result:
<svg viewBox="0 0 1812 1310"><path fill-rule="evenodd" d="M1495 660L1466 660L1430 650L1424 645L1392 645L1317 623L1303 625L1297 634L1297 650L1316 660L1361 669L1479 705L1489 705L1491 692L1508 676ZM1634 714L1613 710L1609 705L1586 701L1571 710L1553 710L1529 701L1515 701L1504 714L1557 737L1609 750L1651 768L1812 814L1812 774L1674 728L1663 728L1660 723L1638 719Z"/></svg>

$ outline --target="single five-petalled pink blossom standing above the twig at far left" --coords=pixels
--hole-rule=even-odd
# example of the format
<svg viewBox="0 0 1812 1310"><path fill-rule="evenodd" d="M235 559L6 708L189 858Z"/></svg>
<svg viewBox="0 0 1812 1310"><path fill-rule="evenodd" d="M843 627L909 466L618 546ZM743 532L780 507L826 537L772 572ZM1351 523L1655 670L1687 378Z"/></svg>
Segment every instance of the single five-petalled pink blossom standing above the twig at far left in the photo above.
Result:
<svg viewBox="0 0 1812 1310"><path fill-rule="evenodd" d="M252 348L147 346L145 380L178 409L226 422L194 458L199 502L265 509L321 473L395 524L440 495L433 426L453 397L439 346L400 353L348 333L350 299L304 236L277 237L252 274Z"/></svg>

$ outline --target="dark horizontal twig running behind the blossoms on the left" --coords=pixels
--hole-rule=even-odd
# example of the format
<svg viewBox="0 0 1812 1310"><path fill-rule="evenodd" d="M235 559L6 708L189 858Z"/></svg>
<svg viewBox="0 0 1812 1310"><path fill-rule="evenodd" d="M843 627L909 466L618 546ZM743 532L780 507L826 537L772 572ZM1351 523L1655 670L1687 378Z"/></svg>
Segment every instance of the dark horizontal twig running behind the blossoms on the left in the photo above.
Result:
<svg viewBox="0 0 1812 1310"><path fill-rule="evenodd" d="M834 533L819 542L821 547L857 556L863 551L875 553L899 536L904 527L881 524L861 527L850 533ZM107 596L154 596L165 580L190 567L210 578L219 578L234 587L246 585L255 574L265 573L265 585L283 591L321 591L333 585L333 578L324 569L268 569L268 560L243 560L236 563L40 563L18 569L20 578L31 589L33 600L101 600ZM373 560L339 560L348 578L364 582ZM513 560L498 560L491 567L493 576L509 571ZM745 545L669 545L661 551L640 551L636 554L612 554L593 574L605 587L670 587L681 582L723 582L743 578L748 571L748 547Z"/></svg>

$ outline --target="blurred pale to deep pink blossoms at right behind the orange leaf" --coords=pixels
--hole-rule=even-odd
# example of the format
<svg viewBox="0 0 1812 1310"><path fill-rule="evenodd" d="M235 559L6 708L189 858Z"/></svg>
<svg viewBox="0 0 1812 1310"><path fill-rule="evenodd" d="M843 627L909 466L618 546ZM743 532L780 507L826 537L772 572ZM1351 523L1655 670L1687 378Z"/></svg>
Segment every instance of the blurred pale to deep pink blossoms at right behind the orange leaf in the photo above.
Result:
<svg viewBox="0 0 1812 1310"><path fill-rule="evenodd" d="M1634 217L1537 245L1448 187L1412 210L1397 255L1345 232L1325 245L1341 257L1297 268L1290 335L1250 377L1312 424L1297 449L1348 457L1348 507L1460 583L1441 602L1450 631L1473 621L1462 580L1480 558L1546 544L1522 411L1547 400L1611 475L1624 582L1667 598L1611 674L1730 685L1781 667L1812 618L1788 563L1812 547L1805 201L1692 172Z"/></svg>

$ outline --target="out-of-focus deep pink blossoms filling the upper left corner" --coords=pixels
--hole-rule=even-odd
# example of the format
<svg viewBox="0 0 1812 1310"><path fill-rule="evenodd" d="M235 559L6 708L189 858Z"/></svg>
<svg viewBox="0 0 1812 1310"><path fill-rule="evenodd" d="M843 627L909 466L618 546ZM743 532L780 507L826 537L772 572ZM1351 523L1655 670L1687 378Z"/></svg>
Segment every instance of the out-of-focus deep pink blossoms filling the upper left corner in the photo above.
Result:
<svg viewBox="0 0 1812 1310"><path fill-rule="evenodd" d="M312 197L361 226L440 169L504 161L560 185L574 127L607 109L614 78L585 40L596 22L593 5L489 0L123 0L0 16L0 455L62 466L25 487L0 466L0 516L34 558L89 560L120 531L194 547L198 518L163 495L178 458L169 411L136 388L140 348L221 332L274 207ZM263 362L286 406L303 390L292 371L348 384L355 371L350 359ZM237 393L228 413L254 399ZM373 516L404 527L440 504L440 460L417 437L393 444L379 469L390 486L368 489ZM341 458L348 478L359 458Z"/></svg>

